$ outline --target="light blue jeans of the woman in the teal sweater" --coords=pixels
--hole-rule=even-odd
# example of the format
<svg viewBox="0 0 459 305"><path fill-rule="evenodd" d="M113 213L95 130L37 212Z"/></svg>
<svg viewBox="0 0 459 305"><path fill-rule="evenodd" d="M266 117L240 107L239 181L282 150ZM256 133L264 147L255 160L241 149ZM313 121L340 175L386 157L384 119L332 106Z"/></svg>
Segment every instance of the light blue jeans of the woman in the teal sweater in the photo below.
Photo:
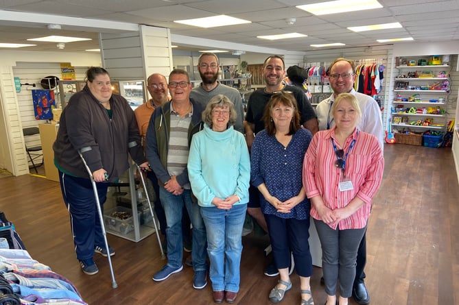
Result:
<svg viewBox="0 0 459 305"><path fill-rule="evenodd" d="M201 208L207 228L207 254L211 261L209 276L213 291L239 292L242 227L246 210L247 204L237 204L230 210L216 206Z"/></svg>

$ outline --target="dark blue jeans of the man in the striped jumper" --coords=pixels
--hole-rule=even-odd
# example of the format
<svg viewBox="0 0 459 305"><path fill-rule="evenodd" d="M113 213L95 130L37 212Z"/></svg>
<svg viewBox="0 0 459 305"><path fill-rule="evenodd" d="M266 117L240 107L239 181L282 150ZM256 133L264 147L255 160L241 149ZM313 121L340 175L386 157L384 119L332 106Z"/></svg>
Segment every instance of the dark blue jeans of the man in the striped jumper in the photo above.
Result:
<svg viewBox="0 0 459 305"><path fill-rule="evenodd" d="M183 262L183 234L182 215L183 206L188 210L191 225L193 225L193 259L194 271L207 270L206 260L206 227L202 221L200 207L191 201L191 190L183 190L181 195L173 195L162 186L159 188L159 197L163 203L166 215L166 236L167 236L167 265L172 268L179 268Z"/></svg>

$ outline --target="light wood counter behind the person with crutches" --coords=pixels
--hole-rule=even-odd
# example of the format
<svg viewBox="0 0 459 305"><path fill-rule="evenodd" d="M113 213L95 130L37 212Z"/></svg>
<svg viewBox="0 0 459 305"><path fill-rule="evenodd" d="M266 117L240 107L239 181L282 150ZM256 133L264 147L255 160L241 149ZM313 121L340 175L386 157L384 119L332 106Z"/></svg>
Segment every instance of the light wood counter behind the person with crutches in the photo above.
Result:
<svg viewBox="0 0 459 305"><path fill-rule="evenodd" d="M58 169L54 166L53 144L58 134L58 124L38 124L40 130L41 147L43 149L43 165L47 180L59 182Z"/></svg>

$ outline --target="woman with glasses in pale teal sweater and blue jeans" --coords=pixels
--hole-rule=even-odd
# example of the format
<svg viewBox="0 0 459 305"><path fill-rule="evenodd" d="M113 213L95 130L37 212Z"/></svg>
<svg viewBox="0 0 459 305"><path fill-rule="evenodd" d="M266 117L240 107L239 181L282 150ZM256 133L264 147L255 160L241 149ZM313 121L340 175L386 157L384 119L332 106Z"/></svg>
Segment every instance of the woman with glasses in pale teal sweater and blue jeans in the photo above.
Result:
<svg viewBox="0 0 459 305"><path fill-rule="evenodd" d="M233 303L239 292L250 157L244 135L233 128L236 112L228 97L215 95L202 121L204 130L191 141L188 175L207 228L213 299Z"/></svg>

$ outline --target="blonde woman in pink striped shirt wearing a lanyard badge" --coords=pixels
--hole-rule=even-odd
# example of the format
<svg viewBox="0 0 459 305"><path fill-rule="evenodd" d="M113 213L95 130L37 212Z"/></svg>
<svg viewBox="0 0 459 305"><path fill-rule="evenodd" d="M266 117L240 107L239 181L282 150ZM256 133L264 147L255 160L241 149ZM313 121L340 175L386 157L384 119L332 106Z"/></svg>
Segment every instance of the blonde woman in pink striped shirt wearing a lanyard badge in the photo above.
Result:
<svg viewBox="0 0 459 305"><path fill-rule="evenodd" d="M352 295L357 248L381 184L384 157L377 138L357 130L361 112L354 95L338 95L331 113L335 127L317 132L305 154L303 185L322 245L326 304L339 300L346 305Z"/></svg>

